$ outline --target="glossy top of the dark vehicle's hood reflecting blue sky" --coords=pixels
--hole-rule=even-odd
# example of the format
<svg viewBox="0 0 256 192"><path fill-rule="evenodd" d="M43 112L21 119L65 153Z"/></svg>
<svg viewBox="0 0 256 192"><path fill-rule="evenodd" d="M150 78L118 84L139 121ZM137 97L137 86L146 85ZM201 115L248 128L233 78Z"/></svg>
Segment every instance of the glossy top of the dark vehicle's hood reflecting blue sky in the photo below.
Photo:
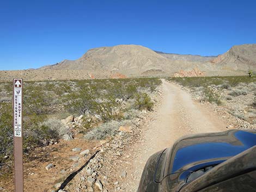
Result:
<svg viewBox="0 0 256 192"><path fill-rule="evenodd" d="M219 164L256 145L256 131L231 130L191 135L178 140L170 154L169 173L199 169L199 165Z"/></svg>

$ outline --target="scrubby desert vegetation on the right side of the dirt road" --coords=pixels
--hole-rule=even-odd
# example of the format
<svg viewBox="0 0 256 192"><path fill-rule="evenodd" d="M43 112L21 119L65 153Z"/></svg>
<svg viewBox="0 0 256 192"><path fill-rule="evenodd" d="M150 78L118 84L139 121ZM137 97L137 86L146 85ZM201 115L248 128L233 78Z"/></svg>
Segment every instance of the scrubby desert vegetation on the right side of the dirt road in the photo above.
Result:
<svg viewBox="0 0 256 192"><path fill-rule="evenodd" d="M168 80L188 88L196 100L225 106L231 115L256 125L256 76L179 77Z"/></svg>

